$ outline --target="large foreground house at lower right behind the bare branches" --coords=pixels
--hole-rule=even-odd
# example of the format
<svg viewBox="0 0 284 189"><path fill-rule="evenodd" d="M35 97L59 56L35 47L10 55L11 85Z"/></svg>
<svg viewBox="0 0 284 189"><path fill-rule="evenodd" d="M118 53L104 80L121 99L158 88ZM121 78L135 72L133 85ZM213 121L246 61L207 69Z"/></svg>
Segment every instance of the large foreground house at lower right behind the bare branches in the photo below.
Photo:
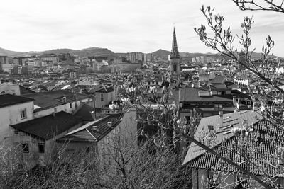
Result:
<svg viewBox="0 0 284 189"><path fill-rule="evenodd" d="M238 137L234 130L240 131ZM204 136L213 133L215 134L214 142L210 143L204 139ZM283 130L264 120L260 111L253 110L202 118L195 132L195 139L199 141L204 139L204 144L217 151L218 154L231 159L259 178L263 176L263 170L270 176L275 176L283 170L281 169L282 163L279 164L279 160L275 159L277 156L271 156L275 154L275 150L283 148L282 136ZM244 145L243 139L248 137L252 137L253 140L247 143L248 145ZM245 161L244 156L237 153L235 149L246 151L245 154L251 161ZM248 178L244 173L237 171L236 168L222 162L217 156L194 143L188 148L183 164L192 168L193 188L209 188L217 185L221 188L241 188L241 184L246 181L242 182L239 179ZM260 165L263 169L258 168ZM223 175L217 175L216 171ZM283 186L284 178L275 178L275 183Z"/></svg>

